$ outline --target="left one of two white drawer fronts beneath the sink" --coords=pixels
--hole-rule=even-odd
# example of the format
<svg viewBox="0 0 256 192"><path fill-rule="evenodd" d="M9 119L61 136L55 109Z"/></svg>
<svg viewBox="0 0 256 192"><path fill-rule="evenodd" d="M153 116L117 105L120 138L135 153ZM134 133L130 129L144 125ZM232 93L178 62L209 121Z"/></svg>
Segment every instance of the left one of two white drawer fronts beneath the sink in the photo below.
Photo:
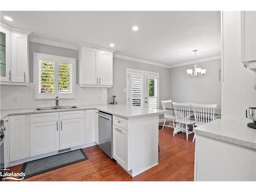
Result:
<svg viewBox="0 0 256 192"><path fill-rule="evenodd" d="M39 113L30 115L30 123L57 121L59 113Z"/></svg>

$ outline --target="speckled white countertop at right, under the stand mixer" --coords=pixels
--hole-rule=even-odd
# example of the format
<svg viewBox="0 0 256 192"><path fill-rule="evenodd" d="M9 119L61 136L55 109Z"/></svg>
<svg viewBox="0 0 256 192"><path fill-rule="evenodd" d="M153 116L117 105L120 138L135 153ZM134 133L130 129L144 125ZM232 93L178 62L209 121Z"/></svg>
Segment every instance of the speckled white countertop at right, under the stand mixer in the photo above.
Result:
<svg viewBox="0 0 256 192"><path fill-rule="evenodd" d="M246 122L217 119L195 127L198 135L256 149L256 130L247 127Z"/></svg>

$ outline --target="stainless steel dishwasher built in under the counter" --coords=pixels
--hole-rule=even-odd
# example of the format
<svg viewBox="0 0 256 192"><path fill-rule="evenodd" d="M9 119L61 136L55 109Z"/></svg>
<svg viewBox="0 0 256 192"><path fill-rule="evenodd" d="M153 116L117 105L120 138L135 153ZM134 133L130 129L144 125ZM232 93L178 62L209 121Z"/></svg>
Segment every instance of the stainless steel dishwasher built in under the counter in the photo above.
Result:
<svg viewBox="0 0 256 192"><path fill-rule="evenodd" d="M112 115L98 112L99 148L112 157Z"/></svg>

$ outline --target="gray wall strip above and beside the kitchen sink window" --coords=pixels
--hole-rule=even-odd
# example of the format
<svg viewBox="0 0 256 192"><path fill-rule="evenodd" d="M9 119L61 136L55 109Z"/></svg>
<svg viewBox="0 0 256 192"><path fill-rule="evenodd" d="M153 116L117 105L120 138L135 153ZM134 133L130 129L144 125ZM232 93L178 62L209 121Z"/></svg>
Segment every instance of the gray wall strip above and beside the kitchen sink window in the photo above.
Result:
<svg viewBox="0 0 256 192"><path fill-rule="evenodd" d="M49 46L45 44L38 44L37 42L31 42L29 45L29 78L30 82L33 82L33 53L45 53L51 55L58 55L62 57L76 58L76 83L78 84L78 50L66 49L56 46Z"/></svg>

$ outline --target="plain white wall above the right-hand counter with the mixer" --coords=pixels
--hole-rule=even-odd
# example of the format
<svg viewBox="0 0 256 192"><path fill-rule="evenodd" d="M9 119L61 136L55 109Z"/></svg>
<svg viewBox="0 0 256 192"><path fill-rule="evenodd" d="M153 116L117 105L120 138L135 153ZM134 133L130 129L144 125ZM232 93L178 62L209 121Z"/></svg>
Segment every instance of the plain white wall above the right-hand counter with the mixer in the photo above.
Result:
<svg viewBox="0 0 256 192"><path fill-rule="evenodd" d="M255 73L241 63L240 11L223 12L222 118L252 122L245 110L255 106Z"/></svg>

